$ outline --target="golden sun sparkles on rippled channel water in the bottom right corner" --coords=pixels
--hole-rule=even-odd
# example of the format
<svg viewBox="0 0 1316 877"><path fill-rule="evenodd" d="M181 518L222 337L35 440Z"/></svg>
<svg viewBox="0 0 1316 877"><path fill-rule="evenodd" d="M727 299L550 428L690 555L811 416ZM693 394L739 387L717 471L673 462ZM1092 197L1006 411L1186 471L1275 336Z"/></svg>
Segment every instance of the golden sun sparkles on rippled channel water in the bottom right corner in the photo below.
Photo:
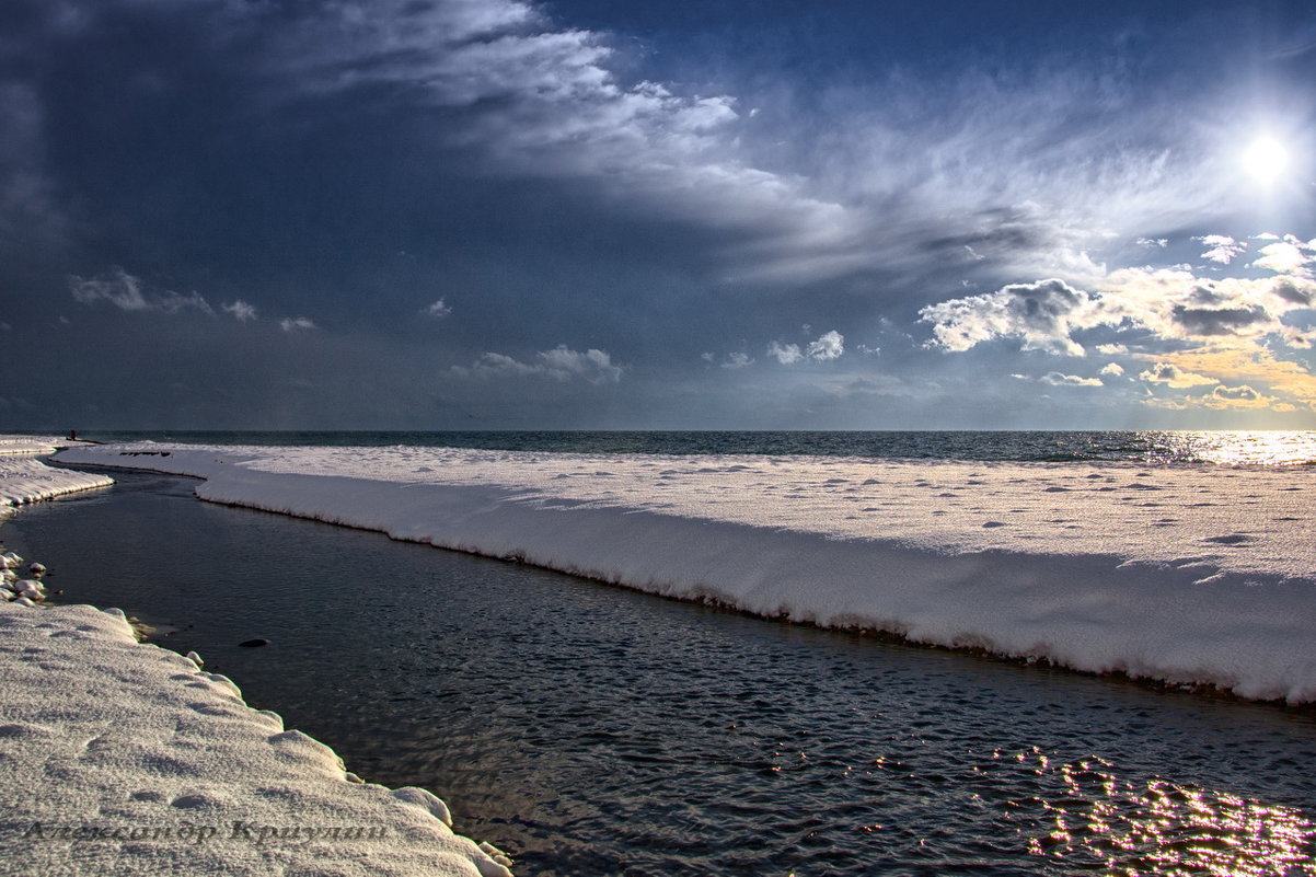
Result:
<svg viewBox="0 0 1316 877"><path fill-rule="evenodd" d="M1163 778L1125 781L1098 757L1053 764L1034 748L996 758L1058 781L1053 794L1007 805L1029 852L1055 865L1121 877L1316 876L1316 824L1300 810Z"/></svg>

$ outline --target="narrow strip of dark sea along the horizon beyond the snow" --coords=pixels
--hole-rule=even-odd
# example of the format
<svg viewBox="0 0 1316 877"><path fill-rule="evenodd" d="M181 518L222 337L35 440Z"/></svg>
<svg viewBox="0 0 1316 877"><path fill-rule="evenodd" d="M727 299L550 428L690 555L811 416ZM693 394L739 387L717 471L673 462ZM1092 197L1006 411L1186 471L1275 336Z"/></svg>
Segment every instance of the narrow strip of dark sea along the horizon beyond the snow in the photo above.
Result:
<svg viewBox="0 0 1316 877"><path fill-rule="evenodd" d="M84 432L96 441L408 445L574 453L811 454L1152 465L1316 464L1316 432Z"/></svg>

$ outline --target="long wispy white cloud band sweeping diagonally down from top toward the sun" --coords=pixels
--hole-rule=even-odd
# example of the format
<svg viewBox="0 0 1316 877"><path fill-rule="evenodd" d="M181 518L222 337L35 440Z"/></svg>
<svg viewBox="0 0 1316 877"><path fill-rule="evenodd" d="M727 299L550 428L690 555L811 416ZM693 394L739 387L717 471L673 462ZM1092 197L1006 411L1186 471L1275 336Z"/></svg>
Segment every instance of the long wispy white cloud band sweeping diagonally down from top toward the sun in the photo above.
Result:
<svg viewBox="0 0 1316 877"><path fill-rule="evenodd" d="M1174 223L1224 195L1195 174L1202 144L1130 142L1126 129L1086 121L1138 88L1116 66L1082 109L1075 96L1091 90L1061 58L1016 80L887 74L832 93L854 112L829 120L824 151L807 112L784 130L750 124L755 108L736 93L624 83L621 40L558 24L540 4L380 0L361 16L328 3L315 16L280 12L278 28L265 7L230 1L226 12L230 29L268 34L271 90L393 88L420 107L459 109L449 142L478 145L486 173L582 179L641 213L741 229L721 248L737 282L899 267L920 244L969 261L1067 263L1112 224ZM878 113L875 92L903 97ZM1163 120L1187 108L1146 112ZM803 144L784 167L765 153L782 136Z"/></svg>

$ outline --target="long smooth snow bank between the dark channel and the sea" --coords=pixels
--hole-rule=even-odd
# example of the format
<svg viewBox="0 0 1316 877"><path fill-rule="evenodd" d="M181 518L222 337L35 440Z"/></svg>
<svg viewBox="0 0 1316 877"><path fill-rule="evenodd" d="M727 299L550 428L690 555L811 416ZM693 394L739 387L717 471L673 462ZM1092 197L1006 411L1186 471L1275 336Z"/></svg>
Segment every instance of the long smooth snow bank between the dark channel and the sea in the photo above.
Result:
<svg viewBox="0 0 1316 877"><path fill-rule="evenodd" d="M1316 701L1308 469L150 442L61 460L769 618Z"/></svg>

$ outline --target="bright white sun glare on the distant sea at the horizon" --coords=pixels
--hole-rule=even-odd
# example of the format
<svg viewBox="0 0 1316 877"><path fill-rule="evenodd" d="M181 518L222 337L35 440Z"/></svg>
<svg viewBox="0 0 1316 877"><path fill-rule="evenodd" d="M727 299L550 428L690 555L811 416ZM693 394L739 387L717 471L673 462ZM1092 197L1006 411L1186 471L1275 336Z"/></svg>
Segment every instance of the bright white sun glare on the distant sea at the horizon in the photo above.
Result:
<svg viewBox="0 0 1316 877"><path fill-rule="evenodd" d="M1307 429L1211 429L1140 432L1148 462L1225 466L1316 465L1316 432Z"/></svg>

